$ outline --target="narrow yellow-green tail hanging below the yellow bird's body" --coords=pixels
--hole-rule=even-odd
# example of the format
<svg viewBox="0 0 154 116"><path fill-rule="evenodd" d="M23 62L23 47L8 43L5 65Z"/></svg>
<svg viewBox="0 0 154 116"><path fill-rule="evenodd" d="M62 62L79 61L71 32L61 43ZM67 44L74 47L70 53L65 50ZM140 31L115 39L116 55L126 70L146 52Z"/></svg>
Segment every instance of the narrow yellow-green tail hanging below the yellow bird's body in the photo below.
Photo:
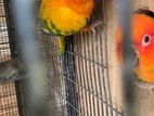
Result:
<svg viewBox="0 0 154 116"><path fill-rule="evenodd" d="M60 55L64 55L65 54L65 37L64 36L59 37L59 48L60 48Z"/></svg>

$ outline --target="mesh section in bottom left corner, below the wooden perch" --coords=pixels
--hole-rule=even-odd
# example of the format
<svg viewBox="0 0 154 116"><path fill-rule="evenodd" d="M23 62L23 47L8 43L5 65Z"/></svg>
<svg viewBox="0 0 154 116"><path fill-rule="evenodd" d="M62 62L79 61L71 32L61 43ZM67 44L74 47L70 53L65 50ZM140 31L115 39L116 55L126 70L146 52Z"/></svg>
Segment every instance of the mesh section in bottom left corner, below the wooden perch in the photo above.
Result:
<svg viewBox="0 0 154 116"><path fill-rule="evenodd" d="M0 85L0 116L18 116L14 82Z"/></svg>

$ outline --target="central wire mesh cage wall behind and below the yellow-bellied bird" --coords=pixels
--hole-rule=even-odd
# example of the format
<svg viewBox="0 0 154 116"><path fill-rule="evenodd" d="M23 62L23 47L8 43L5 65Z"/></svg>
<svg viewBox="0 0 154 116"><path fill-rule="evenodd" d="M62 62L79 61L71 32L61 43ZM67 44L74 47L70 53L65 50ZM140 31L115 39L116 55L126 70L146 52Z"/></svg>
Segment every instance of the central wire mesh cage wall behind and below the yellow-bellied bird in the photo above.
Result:
<svg viewBox="0 0 154 116"><path fill-rule="evenodd" d="M54 91L51 101L65 101L61 104L53 102L55 114L60 109L67 116L123 115L111 100L105 3L100 0L91 16L91 22L103 20L103 24L95 28L95 35L91 31L68 37L63 59L57 55L56 37L42 34L44 57L51 63L48 78L48 91L51 88Z"/></svg>

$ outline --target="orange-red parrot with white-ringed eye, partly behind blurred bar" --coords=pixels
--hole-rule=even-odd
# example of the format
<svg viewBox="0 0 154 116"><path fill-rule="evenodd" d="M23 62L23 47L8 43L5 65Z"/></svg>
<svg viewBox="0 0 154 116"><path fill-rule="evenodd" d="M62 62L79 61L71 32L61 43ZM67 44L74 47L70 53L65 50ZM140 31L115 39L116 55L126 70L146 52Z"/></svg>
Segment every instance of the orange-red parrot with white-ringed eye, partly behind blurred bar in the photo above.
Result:
<svg viewBox="0 0 154 116"><path fill-rule="evenodd" d="M154 83L154 12L139 9L131 15L130 40L136 52L133 74L137 80ZM123 63L121 29L116 29L117 59Z"/></svg>

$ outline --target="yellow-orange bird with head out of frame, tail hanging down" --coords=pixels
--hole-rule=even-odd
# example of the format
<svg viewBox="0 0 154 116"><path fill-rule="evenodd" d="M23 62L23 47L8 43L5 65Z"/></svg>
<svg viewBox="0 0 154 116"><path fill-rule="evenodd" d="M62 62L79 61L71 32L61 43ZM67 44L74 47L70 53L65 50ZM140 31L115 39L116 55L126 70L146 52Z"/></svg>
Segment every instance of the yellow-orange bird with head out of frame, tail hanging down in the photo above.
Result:
<svg viewBox="0 0 154 116"><path fill-rule="evenodd" d="M48 34L59 36L61 54L65 52L65 37L85 28L93 8L93 0L42 0L39 17Z"/></svg>

